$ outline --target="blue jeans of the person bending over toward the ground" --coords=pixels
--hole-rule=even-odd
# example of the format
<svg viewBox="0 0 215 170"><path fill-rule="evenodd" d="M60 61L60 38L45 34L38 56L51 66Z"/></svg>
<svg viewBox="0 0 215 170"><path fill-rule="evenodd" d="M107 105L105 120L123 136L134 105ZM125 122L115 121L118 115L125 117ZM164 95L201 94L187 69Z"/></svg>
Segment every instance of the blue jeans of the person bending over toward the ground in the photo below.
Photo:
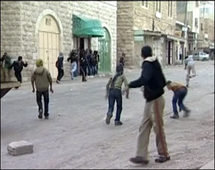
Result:
<svg viewBox="0 0 215 170"><path fill-rule="evenodd" d="M183 111L188 110L187 107L184 106L184 104L183 104L183 100L186 95L187 95L187 88L181 88L174 92L174 96L172 99L172 107L173 107L174 114L178 114L177 102L178 102L178 106L181 110L183 110Z"/></svg>

